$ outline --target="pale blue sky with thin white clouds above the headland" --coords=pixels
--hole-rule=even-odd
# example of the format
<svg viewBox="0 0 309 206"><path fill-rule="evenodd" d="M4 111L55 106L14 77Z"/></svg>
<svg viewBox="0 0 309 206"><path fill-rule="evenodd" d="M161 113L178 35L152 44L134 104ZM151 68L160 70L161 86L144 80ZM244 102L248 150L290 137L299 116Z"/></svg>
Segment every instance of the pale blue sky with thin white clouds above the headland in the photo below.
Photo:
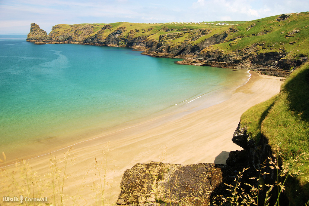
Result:
<svg viewBox="0 0 309 206"><path fill-rule="evenodd" d="M32 22L57 24L251 21L309 11L308 0L0 0L0 34L28 34Z"/></svg>

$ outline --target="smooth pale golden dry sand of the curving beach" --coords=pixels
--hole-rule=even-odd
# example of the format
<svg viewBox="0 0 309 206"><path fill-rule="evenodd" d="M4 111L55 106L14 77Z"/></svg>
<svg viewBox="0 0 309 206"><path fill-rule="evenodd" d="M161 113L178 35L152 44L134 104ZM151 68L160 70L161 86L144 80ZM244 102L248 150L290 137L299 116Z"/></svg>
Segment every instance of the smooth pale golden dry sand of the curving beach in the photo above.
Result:
<svg viewBox="0 0 309 206"><path fill-rule="evenodd" d="M164 161L175 164L225 164L230 151L242 150L231 139L243 112L280 91L281 78L250 73L250 80L222 103L188 114L182 112L167 115L75 144L72 149L74 164L69 164L66 168L68 179L64 194L67 199L77 195L77 188L83 185L83 190L78 195L83 194L84 199L78 200L78 204L93 204L95 193L91 186L84 185L93 185L93 182L99 184L95 159L99 164L102 163L100 176L106 174L110 194L105 194L105 197L108 199L107 203L111 204L115 203L120 192L123 172L136 163ZM107 152L105 146L108 141L108 148L112 151ZM49 172L51 156L62 159L66 151L67 148L28 162L38 172L37 175L44 176ZM14 168L14 165L5 167L7 171Z"/></svg>

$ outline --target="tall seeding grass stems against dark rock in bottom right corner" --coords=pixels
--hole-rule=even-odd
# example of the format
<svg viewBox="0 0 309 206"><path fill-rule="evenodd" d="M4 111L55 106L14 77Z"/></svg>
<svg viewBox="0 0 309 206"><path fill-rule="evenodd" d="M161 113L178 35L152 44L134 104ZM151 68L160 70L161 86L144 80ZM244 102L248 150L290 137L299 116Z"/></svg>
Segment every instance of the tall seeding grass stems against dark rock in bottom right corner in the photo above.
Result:
<svg viewBox="0 0 309 206"><path fill-rule="evenodd" d="M259 172L259 177L251 177L249 179L255 180L256 184L248 184L242 183L241 180L243 179L243 175L246 170L249 168L244 168L243 171L239 172L237 177L235 177L234 184L226 184L229 189L228 191L231 192L231 196L223 197L223 196L216 196L214 197L213 205L263 205L263 206L270 206L270 199L272 198L272 202L274 206L279 206L280 196L282 192L286 189L286 180L288 176L298 176L304 175L297 170L301 163L301 160L308 159L309 155L306 153L302 153L296 156L293 160L290 160L288 163L282 165L282 168L279 167L278 157L281 155L279 149L275 151L273 154L273 158L268 158L268 160L261 165L261 169L257 170ZM268 163L268 164L267 164ZM263 176L270 175L269 172L265 172L267 170L274 170L274 174L276 174L277 180L274 184L264 184L263 183ZM309 182L309 174L307 174L307 181ZM255 186L257 185L257 187ZM261 194L264 193L264 194ZM263 203L259 202L261 198L260 196L265 197ZM306 206L309 205L309 200ZM272 205L271 205L272 206Z"/></svg>

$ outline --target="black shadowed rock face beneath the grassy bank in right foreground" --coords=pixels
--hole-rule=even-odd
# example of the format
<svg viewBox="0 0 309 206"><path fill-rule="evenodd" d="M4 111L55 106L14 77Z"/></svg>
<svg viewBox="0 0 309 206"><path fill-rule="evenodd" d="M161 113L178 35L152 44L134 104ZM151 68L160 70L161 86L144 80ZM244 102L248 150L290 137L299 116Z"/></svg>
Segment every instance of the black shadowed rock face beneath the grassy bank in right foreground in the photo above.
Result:
<svg viewBox="0 0 309 206"><path fill-rule="evenodd" d="M280 176L276 168L272 168L272 164L269 163L270 160L275 161L276 151L273 151L268 144L268 139L261 134L260 139L255 141L250 138L247 133L247 127L239 123L235 133L233 135L232 141L243 148L241 151L231 151L226 164L232 168L248 168L246 173L247 177L242 181L258 186L257 182L251 181L251 177L259 178L263 184L274 185L277 187L277 181L283 183L285 181L285 176ZM276 155L278 157L278 154ZM279 167L280 166L280 160ZM265 173L265 175L262 175ZM278 178L278 179L277 179ZM280 205L305 205L308 201L308 194L305 193L303 188L300 186L299 181L288 175L287 181L285 183L285 191L282 192L280 196ZM263 191L264 190L264 191ZM269 205L275 205L277 201L277 190L273 189L269 193ZM265 201L265 189L260 190L259 202Z"/></svg>

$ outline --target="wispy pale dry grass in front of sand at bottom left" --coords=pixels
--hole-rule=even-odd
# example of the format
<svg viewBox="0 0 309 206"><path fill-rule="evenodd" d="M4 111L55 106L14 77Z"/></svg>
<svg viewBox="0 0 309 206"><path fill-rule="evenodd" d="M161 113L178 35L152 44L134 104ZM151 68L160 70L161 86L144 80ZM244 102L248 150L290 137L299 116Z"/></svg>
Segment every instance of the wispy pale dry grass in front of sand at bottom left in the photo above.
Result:
<svg viewBox="0 0 309 206"><path fill-rule="evenodd" d="M89 168L83 176L80 185L76 188L76 194L68 196L65 194L66 182L70 178L67 168L74 165L74 153L72 147L69 148L63 158L51 156L49 160L49 172L44 176L39 176L28 164L27 161L21 160L15 164L13 170L0 168L0 197L10 196L19 197L21 194L28 198L48 197L48 202L30 202L23 201L22 205L86 205L87 200L81 195L81 191L85 188L91 189L91 199L95 200L95 205L111 205L111 184L108 183L107 172L109 171L108 153L111 152L108 144L102 151L102 162L98 162L95 158L94 166ZM6 156L2 153L5 162ZM115 165L116 166L116 165ZM89 173L95 175L92 185L85 184L85 180ZM1 198L2 199L2 198ZM2 201L0 205L18 205L19 202ZM85 204L86 202L86 204ZM93 205L93 204L90 204Z"/></svg>

